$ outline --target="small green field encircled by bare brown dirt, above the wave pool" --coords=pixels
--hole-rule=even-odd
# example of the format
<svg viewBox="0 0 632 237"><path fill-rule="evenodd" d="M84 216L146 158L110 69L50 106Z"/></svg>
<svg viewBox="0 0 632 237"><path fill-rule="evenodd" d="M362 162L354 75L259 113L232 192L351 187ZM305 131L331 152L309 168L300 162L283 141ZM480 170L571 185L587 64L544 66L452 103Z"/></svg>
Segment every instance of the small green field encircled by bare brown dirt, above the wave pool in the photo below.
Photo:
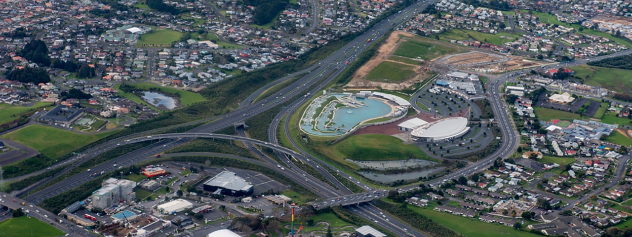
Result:
<svg viewBox="0 0 632 237"><path fill-rule="evenodd" d="M377 64L367 75L367 80L372 82L401 82L415 76L413 66L383 61Z"/></svg>

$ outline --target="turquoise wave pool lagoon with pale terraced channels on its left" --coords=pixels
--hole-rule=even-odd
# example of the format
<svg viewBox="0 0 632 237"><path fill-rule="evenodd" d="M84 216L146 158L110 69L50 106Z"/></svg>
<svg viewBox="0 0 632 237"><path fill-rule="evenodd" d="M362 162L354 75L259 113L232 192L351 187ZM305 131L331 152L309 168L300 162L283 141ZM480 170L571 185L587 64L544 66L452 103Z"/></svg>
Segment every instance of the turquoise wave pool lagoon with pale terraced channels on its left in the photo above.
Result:
<svg viewBox="0 0 632 237"><path fill-rule="evenodd" d="M332 96L336 97L338 102L336 100L327 102ZM339 107L337 106L339 104L346 104L347 106ZM316 114L320 107L323 107L322 112ZM362 121L380 118L391 112L391 106L384 100L375 98L351 99L344 94L328 94L315 99L310 104L308 111L301 119L301 128L313 135L336 136L351 130ZM316 116L315 119L312 119L314 116Z"/></svg>

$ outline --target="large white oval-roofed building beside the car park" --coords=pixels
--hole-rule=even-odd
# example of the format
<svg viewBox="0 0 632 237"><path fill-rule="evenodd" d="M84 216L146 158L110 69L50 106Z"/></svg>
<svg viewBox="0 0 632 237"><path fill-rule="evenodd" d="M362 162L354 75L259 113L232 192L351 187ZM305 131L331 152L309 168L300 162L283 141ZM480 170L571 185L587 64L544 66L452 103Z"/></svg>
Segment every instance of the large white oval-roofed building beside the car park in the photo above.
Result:
<svg viewBox="0 0 632 237"><path fill-rule="evenodd" d="M465 135L470 130L468 119L463 117L444 118L415 128L410 135L424 142L441 141Z"/></svg>

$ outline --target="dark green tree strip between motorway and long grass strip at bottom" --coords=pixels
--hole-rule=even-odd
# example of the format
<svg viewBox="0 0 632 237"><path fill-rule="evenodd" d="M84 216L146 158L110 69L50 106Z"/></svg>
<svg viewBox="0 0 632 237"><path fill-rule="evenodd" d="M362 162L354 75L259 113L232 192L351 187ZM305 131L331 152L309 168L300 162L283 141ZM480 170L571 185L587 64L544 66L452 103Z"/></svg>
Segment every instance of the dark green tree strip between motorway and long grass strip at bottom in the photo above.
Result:
<svg viewBox="0 0 632 237"><path fill-rule="evenodd" d="M432 219L416 213L414 210L408 209L405 203L401 205L396 205L396 204L388 204L387 202L384 202L382 200L374 200L374 204L379 209L389 212L390 214L398 217L399 219L406 220L408 223L415 226L415 228L420 229L421 231L428 233L431 236L442 236L442 237L462 236L456 231L446 228L445 226L442 226L441 224L433 221Z"/></svg>

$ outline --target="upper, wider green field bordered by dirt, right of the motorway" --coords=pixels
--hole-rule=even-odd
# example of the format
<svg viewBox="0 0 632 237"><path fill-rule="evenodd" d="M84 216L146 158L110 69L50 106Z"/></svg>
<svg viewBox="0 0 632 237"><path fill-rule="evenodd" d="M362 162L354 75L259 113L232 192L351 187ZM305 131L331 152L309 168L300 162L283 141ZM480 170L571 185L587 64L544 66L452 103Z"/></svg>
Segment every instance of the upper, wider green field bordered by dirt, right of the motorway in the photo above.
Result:
<svg viewBox="0 0 632 237"><path fill-rule="evenodd" d="M427 42L406 41L399 45L394 54L407 58L430 60L446 54L453 54L454 52L458 52L458 49Z"/></svg>

